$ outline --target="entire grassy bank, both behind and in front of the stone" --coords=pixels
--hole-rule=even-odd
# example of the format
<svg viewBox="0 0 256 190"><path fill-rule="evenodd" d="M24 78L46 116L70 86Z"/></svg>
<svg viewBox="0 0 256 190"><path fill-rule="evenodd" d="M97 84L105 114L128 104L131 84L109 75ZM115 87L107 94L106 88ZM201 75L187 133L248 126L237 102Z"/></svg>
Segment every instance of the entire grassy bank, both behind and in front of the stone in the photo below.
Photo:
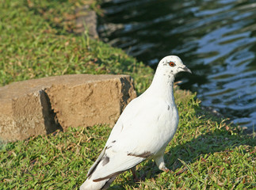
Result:
<svg viewBox="0 0 256 190"><path fill-rule="evenodd" d="M142 93L153 71L117 48L76 36L74 10L91 1L0 3L0 83L60 74L130 74ZM175 90L178 132L162 173L152 161L126 172L113 189L253 189L256 142L200 108L194 94ZM77 189L105 145L108 126L70 128L0 148L0 189Z"/></svg>

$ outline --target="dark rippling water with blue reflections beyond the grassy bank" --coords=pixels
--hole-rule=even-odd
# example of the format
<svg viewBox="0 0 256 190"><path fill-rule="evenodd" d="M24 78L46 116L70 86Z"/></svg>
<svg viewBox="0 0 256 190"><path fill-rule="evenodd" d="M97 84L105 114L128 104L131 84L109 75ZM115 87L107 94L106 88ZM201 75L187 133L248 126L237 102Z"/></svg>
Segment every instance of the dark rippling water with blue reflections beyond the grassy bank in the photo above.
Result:
<svg viewBox="0 0 256 190"><path fill-rule="evenodd" d="M114 0L102 7L99 34L155 68L178 55L193 74L181 89L197 92L235 124L256 124L256 1Z"/></svg>

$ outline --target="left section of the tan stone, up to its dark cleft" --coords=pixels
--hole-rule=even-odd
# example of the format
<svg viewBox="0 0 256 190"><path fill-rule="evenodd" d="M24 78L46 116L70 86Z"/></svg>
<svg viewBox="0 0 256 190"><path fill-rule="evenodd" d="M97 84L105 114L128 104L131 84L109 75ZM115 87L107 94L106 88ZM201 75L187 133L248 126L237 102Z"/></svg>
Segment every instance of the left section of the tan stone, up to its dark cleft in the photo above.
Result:
<svg viewBox="0 0 256 190"><path fill-rule="evenodd" d="M47 84L47 83L45 83ZM0 88L0 140L27 139L59 128L42 80L15 82Z"/></svg>

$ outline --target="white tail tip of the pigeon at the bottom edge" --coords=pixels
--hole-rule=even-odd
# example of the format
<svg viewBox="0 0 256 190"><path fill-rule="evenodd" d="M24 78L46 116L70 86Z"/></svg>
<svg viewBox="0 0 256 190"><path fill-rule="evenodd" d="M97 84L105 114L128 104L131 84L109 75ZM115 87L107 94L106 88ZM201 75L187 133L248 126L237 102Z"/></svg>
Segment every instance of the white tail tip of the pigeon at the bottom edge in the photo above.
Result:
<svg viewBox="0 0 256 190"><path fill-rule="evenodd" d="M107 189L109 185L112 184L116 177L111 177L109 179L100 180L95 182L91 177L88 177L86 181L81 185L80 190L100 190Z"/></svg>

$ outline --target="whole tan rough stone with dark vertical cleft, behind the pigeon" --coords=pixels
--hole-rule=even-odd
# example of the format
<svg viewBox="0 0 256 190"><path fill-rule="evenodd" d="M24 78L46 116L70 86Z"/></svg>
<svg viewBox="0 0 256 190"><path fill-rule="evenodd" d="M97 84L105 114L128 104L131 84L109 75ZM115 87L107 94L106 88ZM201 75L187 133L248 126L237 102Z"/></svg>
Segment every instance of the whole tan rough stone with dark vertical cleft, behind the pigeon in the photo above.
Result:
<svg viewBox="0 0 256 190"><path fill-rule="evenodd" d="M136 91L128 75L75 74L0 87L0 139L15 141L67 127L110 124Z"/></svg>

